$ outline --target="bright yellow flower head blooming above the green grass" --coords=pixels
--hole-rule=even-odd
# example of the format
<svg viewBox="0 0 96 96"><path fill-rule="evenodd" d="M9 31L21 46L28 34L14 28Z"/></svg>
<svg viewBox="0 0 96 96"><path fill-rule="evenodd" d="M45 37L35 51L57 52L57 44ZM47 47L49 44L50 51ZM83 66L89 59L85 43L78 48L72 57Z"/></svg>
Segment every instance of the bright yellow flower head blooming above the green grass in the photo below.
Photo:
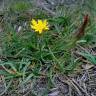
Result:
<svg viewBox="0 0 96 96"><path fill-rule="evenodd" d="M48 30L48 22L47 20L31 20L31 28L34 29L36 32L39 32L41 34L43 31Z"/></svg>

